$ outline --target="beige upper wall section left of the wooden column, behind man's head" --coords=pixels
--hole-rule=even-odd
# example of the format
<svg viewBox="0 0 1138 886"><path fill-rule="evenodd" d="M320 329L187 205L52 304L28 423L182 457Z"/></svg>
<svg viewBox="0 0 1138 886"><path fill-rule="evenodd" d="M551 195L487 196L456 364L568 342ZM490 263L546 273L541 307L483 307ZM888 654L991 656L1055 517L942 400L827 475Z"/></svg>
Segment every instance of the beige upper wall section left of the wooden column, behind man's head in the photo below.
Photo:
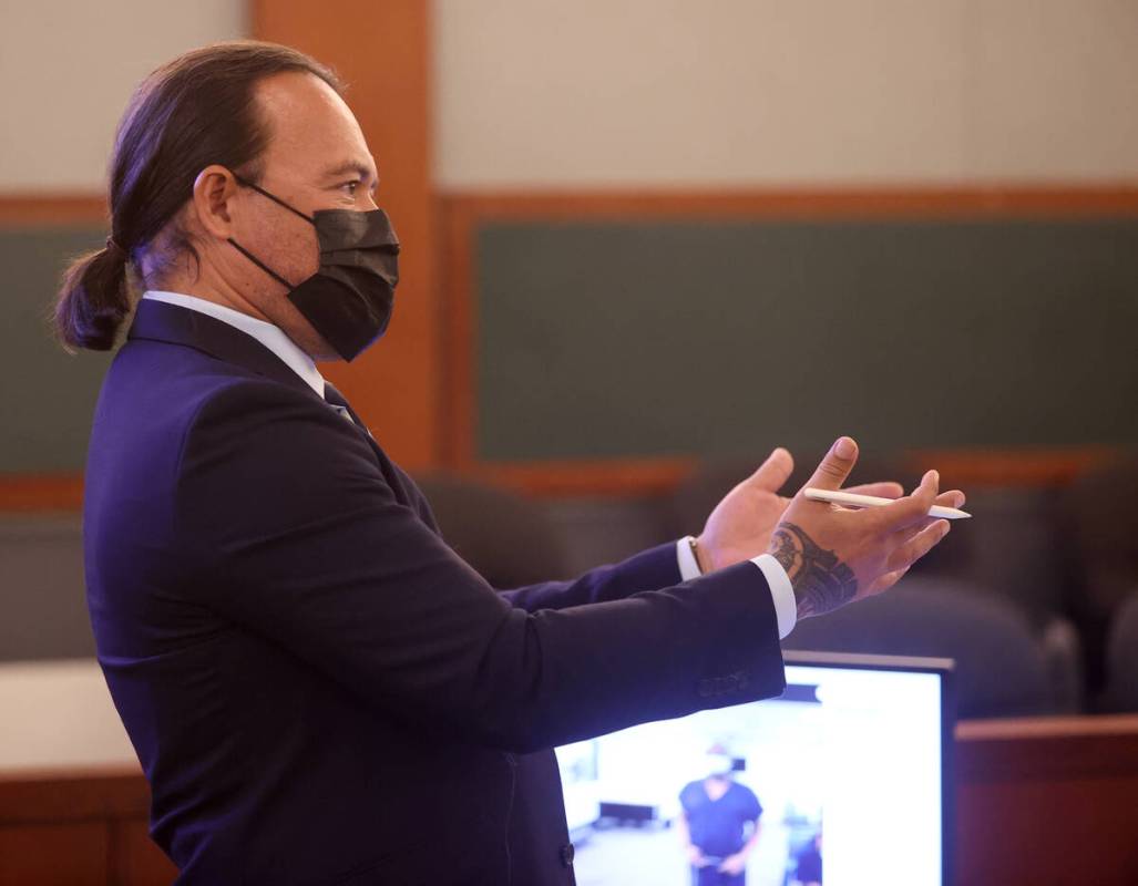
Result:
<svg viewBox="0 0 1138 886"><path fill-rule="evenodd" d="M0 192L104 189L138 82L246 17L244 0L0 0Z"/></svg>

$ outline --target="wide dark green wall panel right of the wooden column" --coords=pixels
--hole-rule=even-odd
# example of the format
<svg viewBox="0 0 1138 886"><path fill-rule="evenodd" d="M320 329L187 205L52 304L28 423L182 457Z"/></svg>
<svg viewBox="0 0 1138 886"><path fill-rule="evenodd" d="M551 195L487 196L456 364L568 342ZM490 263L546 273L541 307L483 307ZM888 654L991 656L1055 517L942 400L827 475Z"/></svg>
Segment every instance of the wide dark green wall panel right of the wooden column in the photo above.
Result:
<svg viewBox="0 0 1138 886"><path fill-rule="evenodd" d="M1138 221L488 223L496 459L1138 444Z"/></svg>

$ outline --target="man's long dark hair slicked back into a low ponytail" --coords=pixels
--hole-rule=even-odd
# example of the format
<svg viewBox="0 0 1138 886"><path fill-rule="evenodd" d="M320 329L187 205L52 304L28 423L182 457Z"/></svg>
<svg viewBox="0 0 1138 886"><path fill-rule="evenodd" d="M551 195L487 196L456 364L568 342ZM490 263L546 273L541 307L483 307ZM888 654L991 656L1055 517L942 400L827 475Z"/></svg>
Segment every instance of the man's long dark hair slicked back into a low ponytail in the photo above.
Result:
<svg viewBox="0 0 1138 886"><path fill-rule="evenodd" d="M307 72L343 91L337 76L315 59L251 40L192 50L142 81L115 138L106 248L72 262L59 288L55 326L66 347L114 346L131 310L129 266L138 270L159 233L166 232L163 245L173 254L185 251L197 259L175 216L190 199L198 173L211 164L259 177L255 164L270 133L254 88L286 72Z"/></svg>

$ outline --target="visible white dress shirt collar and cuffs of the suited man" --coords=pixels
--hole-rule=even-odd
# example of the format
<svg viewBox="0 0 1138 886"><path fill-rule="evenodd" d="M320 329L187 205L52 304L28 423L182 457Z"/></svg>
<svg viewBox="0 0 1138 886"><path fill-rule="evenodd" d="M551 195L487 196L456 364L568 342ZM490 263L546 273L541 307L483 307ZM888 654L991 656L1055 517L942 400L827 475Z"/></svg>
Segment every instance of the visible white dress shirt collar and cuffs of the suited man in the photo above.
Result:
<svg viewBox="0 0 1138 886"><path fill-rule="evenodd" d="M253 336L280 357L281 362L299 375L318 395L324 396L324 376L320 374L316 364L279 326L250 317L248 314L233 310L224 305L206 301L196 296L184 296L181 292L163 292L151 289L143 293L142 298L148 298L151 301L165 301L167 305L178 305L207 314L214 320L229 323L234 329ZM690 581L702 574L695 555L692 553L691 536L676 543L676 560L679 564L679 577L684 581ZM757 556L751 562L762 571L767 586L770 588L770 596L775 604L775 616L778 619L778 637L782 639L794 629L794 623L798 620L794 589L791 587L786 570L769 554Z"/></svg>

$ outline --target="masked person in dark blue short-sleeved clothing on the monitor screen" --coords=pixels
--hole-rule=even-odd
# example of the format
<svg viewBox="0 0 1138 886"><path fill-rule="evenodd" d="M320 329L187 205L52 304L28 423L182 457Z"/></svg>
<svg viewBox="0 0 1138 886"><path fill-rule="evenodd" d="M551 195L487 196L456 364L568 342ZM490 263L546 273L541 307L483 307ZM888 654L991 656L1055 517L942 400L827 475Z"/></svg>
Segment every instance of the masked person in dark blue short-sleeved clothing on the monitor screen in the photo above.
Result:
<svg viewBox="0 0 1138 886"><path fill-rule="evenodd" d="M735 760L721 745L714 745L707 759L707 777L679 792L678 826L692 886L743 886L747 860L759 842L762 804L735 781Z"/></svg>

